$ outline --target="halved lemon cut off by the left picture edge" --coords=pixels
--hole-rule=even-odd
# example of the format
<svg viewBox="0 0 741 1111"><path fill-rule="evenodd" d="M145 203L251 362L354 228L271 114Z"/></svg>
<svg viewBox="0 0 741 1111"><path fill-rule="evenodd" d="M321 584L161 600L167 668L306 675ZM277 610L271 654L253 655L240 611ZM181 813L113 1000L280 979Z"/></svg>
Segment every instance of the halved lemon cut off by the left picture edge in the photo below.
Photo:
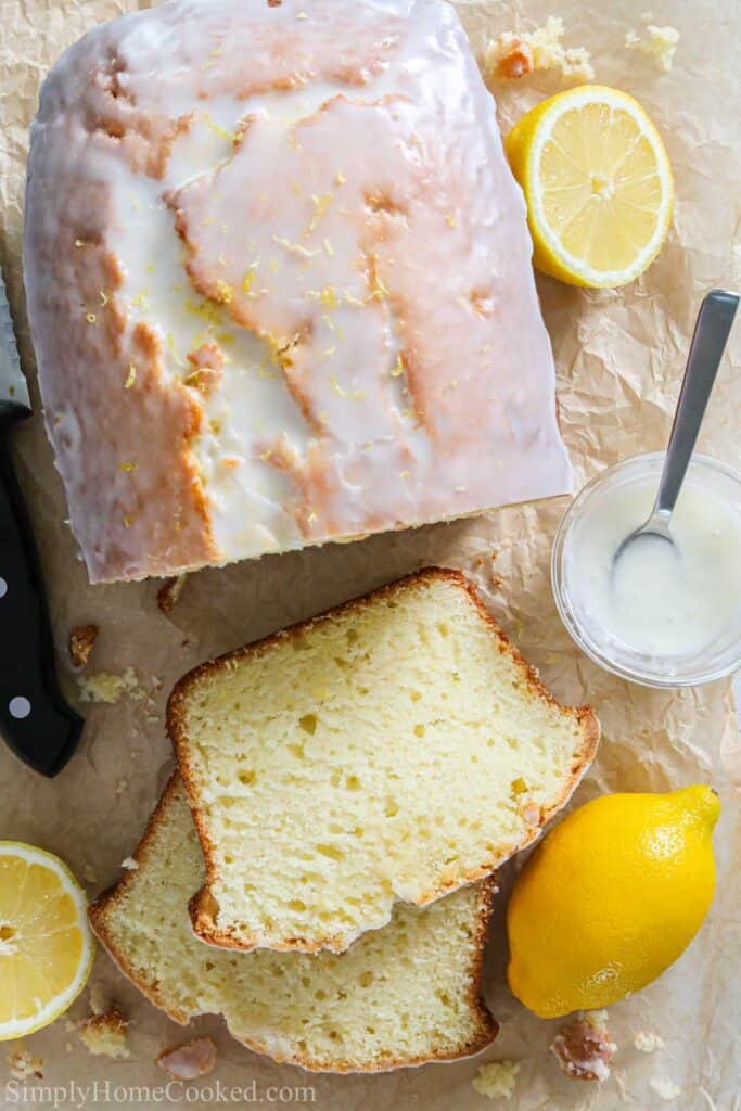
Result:
<svg viewBox="0 0 741 1111"><path fill-rule="evenodd" d="M87 911L58 857L0 841L0 1041L53 1022L82 991L94 954Z"/></svg>

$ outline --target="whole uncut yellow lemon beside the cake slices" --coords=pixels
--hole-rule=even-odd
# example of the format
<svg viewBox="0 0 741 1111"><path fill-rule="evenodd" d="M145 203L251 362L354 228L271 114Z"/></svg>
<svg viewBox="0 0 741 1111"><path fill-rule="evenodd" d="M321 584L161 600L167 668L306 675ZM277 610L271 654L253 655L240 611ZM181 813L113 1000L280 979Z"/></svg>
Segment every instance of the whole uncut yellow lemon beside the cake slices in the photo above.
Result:
<svg viewBox="0 0 741 1111"><path fill-rule="evenodd" d="M709 787L605 794L543 839L507 912L508 980L540 1018L608 1007L672 964L715 887Z"/></svg>

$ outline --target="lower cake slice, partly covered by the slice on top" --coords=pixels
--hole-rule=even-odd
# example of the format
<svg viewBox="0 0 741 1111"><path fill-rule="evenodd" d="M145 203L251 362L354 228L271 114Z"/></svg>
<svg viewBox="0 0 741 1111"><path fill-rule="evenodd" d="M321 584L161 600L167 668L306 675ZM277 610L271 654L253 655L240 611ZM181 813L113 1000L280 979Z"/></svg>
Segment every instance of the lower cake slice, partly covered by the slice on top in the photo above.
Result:
<svg viewBox="0 0 741 1111"><path fill-rule="evenodd" d="M497 1035L479 995L491 881L425 910L399 907L385 929L338 957L218 951L188 917L203 858L178 777L134 861L90 921L122 972L176 1022L221 1013L250 1049L333 1072L464 1057Z"/></svg>

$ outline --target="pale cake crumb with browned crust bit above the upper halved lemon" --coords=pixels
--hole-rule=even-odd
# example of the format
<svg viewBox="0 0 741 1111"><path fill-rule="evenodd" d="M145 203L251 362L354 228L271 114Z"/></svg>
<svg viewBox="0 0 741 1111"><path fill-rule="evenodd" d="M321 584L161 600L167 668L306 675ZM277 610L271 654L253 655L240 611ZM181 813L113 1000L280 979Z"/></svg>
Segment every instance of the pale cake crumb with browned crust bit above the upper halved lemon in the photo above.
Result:
<svg viewBox="0 0 741 1111"><path fill-rule="evenodd" d="M541 70L558 70L564 80L593 81L591 56L584 47L564 47L563 20L549 16L534 31L504 31L487 43L484 67L497 80L517 80Z"/></svg>

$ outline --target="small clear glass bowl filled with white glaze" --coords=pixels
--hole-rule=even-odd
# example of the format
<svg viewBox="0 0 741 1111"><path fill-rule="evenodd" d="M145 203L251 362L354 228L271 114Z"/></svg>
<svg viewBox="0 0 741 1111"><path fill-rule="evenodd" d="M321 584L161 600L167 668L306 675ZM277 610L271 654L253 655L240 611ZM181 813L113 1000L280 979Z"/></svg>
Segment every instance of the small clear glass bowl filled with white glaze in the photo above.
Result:
<svg viewBox="0 0 741 1111"><path fill-rule="evenodd" d="M552 585L571 637L597 663L650 687L709 682L741 664L741 477L695 457L672 519L675 549L622 540L648 518L663 453L590 482L553 546Z"/></svg>

